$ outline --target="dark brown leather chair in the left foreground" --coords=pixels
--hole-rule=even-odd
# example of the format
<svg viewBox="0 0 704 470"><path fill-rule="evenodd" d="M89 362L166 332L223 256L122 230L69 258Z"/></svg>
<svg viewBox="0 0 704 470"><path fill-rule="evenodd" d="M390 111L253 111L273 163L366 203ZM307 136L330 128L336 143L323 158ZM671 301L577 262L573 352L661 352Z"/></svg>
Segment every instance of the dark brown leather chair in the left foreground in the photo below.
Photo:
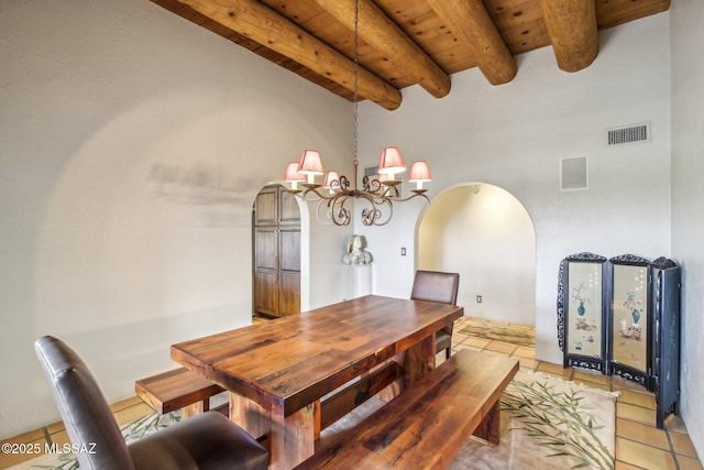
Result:
<svg viewBox="0 0 704 470"><path fill-rule="evenodd" d="M268 452L218 412L207 412L125 444L84 361L64 341L34 343L81 469L266 469Z"/></svg>

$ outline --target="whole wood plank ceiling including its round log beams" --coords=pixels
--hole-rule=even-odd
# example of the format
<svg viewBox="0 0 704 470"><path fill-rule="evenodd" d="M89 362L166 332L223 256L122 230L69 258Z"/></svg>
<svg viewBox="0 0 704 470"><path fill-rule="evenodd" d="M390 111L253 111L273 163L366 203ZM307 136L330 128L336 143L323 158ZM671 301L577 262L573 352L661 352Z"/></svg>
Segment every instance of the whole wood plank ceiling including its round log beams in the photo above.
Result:
<svg viewBox="0 0 704 470"><path fill-rule="evenodd" d="M354 0L152 0L350 101ZM579 72L598 55L597 31L667 11L670 0L359 0L358 99L393 110L400 90L436 98L451 75L479 67L510 81L515 56L551 45Z"/></svg>

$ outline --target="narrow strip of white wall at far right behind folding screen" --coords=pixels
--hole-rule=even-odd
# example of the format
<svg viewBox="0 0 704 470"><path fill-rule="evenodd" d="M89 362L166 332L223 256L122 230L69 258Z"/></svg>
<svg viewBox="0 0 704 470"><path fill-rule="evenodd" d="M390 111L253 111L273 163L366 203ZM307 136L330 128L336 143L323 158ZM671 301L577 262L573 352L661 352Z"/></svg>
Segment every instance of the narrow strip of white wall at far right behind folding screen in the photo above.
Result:
<svg viewBox="0 0 704 470"><path fill-rule="evenodd" d="M704 2L672 2L672 255L682 265L681 408L704 457Z"/></svg>

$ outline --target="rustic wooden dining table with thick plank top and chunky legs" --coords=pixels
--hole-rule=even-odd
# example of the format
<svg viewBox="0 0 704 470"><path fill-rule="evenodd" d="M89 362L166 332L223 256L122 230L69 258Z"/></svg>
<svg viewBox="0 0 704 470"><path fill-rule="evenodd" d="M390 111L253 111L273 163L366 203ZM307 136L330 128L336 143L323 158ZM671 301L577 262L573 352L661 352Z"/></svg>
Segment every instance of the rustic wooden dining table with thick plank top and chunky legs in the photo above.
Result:
<svg viewBox="0 0 704 470"><path fill-rule="evenodd" d="M435 368L436 332L463 313L367 295L173 345L170 356L230 391L230 418L266 438L270 468L290 469L314 455L329 424L323 397L387 364L398 364L395 393L403 393Z"/></svg>

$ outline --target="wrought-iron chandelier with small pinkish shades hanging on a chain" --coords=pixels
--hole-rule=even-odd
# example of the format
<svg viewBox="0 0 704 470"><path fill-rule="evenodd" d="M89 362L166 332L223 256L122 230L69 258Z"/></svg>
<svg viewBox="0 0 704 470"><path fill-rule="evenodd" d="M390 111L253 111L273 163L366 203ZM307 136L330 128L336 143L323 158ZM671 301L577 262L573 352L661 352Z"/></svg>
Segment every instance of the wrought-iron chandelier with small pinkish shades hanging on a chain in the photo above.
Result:
<svg viewBox="0 0 704 470"><path fill-rule="evenodd" d="M404 159L395 146L387 146L382 151L378 163L378 178L362 178L361 188L358 186L358 47L359 47L359 4L354 0L354 95L353 95L353 168L354 177L350 182L338 172L326 172L322 167L320 154L315 150L305 150L298 162L289 162L286 166L284 181L290 183L288 189L292 194L300 194L305 200L318 200L318 219L322 220L321 209L326 210L326 219L331 219L337 226L348 226L352 220L352 210L355 200L362 200L365 207L362 209L362 223L365 226L385 226L394 215L394 203L404 203L415 197L422 196L429 201L422 184L430 181L430 168L427 161L414 162L408 174L408 182L416 183L411 189L413 195L404 198L399 190L400 179L397 174L406 171ZM324 175L324 176L323 176ZM322 177L322 184L316 183L316 177ZM299 188L298 185L302 187Z"/></svg>

